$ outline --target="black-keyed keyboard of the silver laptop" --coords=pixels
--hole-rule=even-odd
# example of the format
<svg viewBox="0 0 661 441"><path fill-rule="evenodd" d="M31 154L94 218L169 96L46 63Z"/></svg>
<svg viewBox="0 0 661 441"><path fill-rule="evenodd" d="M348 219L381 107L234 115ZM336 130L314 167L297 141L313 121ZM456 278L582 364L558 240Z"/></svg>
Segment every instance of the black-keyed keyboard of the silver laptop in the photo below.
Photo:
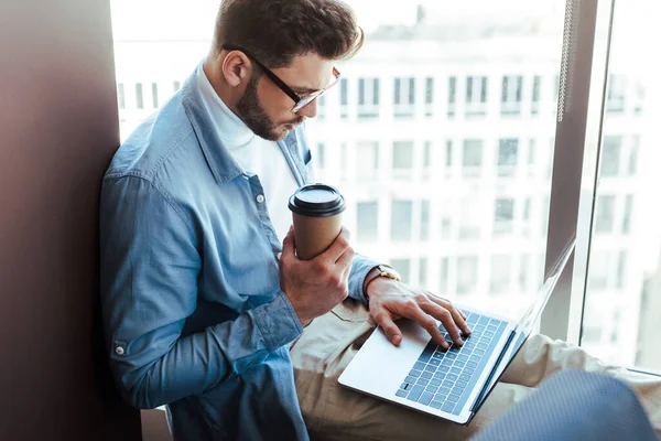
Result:
<svg viewBox="0 0 661 441"><path fill-rule="evenodd" d="M470 312L464 314L472 331L464 345L443 351L430 341L395 392L398 397L460 413L507 326L501 320ZM452 343L445 327L438 329L447 343Z"/></svg>

